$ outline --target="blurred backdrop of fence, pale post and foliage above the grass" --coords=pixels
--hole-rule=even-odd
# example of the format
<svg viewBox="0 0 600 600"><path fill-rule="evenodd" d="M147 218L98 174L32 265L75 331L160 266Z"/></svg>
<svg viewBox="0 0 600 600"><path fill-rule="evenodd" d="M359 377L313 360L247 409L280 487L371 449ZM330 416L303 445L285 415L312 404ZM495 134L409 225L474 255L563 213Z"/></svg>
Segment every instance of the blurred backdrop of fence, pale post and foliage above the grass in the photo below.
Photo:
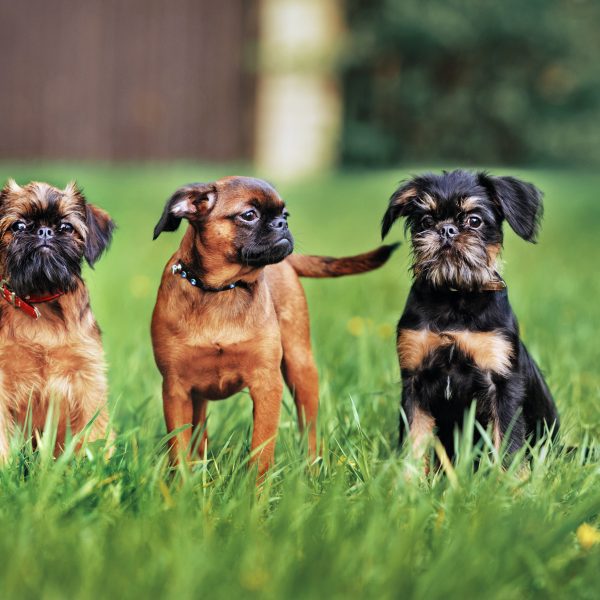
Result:
<svg viewBox="0 0 600 600"><path fill-rule="evenodd" d="M593 0L0 0L0 159L600 163Z"/></svg>

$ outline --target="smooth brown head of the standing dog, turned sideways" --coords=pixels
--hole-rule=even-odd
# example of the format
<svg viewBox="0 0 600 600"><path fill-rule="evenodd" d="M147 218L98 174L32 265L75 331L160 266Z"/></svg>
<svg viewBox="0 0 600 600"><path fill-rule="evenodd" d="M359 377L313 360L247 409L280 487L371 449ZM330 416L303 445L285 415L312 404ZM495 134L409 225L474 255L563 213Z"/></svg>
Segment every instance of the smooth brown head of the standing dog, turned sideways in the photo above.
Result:
<svg viewBox="0 0 600 600"><path fill-rule="evenodd" d="M226 177L179 188L167 201L154 239L187 219L208 256L264 267L282 261L294 249L287 217L283 200L265 181Z"/></svg>

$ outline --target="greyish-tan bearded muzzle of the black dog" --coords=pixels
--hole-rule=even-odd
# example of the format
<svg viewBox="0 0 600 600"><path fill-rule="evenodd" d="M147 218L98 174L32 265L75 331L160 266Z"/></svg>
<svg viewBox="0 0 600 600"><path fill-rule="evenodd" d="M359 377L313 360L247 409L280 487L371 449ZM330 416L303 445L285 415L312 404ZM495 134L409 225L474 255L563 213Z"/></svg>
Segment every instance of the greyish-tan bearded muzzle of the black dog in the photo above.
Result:
<svg viewBox="0 0 600 600"><path fill-rule="evenodd" d="M413 236L412 270L437 288L476 290L497 278L495 253L476 236L461 236L446 245L435 231Z"/></svg>

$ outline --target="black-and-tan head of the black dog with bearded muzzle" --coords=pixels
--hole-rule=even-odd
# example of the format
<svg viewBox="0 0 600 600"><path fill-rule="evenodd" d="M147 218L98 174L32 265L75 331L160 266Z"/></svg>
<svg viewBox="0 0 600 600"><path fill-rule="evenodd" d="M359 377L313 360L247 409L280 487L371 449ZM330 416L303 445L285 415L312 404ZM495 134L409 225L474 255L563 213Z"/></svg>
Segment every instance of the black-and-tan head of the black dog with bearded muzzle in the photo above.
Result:
<svg viewBox="0 0 600 600"><path fill-rule="evenodd" d="M542 194L513 177L463 170L428 173L403 183L390 199L382 236L406 218L416 279L434 287L476 290L493 281L506 219L533 242L542 215Z"/></svg>

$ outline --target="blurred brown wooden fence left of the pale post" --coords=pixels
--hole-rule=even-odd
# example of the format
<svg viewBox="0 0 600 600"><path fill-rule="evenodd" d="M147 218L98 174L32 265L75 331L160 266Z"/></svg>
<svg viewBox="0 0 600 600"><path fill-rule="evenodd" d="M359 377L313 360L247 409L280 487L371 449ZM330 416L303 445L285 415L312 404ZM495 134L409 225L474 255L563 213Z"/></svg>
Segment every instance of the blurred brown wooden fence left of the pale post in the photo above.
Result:
<svg viewBox="0 0 600 600"><path fill-rule="evenodd" d="M0 0L0 159L248 157L255 3Z"/></svg>

